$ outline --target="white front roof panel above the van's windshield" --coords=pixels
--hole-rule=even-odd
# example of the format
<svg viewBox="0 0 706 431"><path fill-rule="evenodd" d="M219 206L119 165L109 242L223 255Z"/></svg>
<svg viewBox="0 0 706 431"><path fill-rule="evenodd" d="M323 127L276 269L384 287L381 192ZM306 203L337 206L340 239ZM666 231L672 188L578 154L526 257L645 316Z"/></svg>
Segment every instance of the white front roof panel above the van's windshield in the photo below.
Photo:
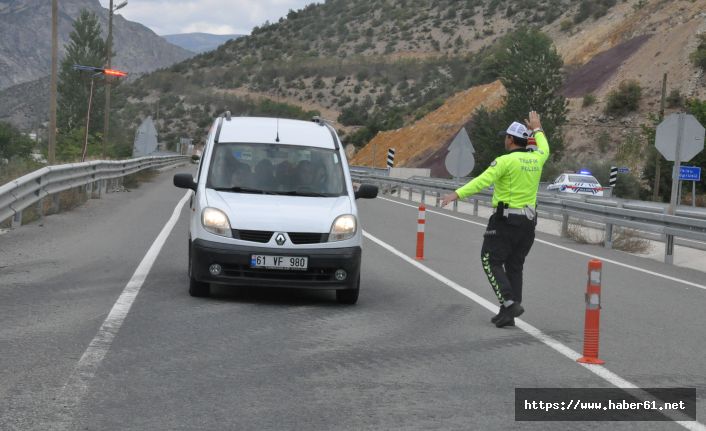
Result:
<svg viewBox="0 0 706 431"><path fill-rule="evenodd" d="M313 121L284 118L279 119L279 142L276 142L277 122L277 118L265 117L232 117L230 121L224 119L218 141L335 148L328 127Z"/></svg>

